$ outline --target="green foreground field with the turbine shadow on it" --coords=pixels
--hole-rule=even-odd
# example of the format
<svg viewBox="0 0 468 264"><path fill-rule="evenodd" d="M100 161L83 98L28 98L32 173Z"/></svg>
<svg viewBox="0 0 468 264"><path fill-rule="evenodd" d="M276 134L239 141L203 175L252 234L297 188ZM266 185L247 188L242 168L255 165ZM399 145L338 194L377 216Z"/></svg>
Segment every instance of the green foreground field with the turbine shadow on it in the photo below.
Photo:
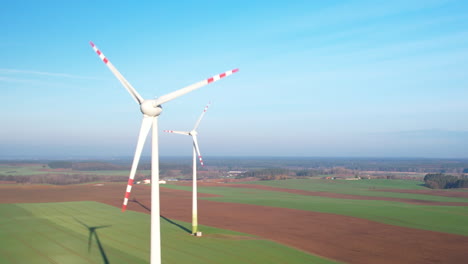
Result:
<svg viewBox="0 0 468 264"><path fill-rule="evenodd" d="M0 263L148 263L150 216L97 202L0 204ZM96 230L102 250L88 227ZM248 234L161 218L163 263L336 263Z"/></svg>

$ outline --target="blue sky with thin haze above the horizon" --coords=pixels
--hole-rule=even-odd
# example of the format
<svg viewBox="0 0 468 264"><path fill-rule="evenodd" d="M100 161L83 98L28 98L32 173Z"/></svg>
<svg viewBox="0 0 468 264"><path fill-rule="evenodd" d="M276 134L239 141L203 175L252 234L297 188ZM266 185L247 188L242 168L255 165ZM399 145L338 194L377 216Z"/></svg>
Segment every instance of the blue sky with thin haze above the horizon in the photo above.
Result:
<svg viewBox="0 0 468 264"><path fill-rule="evenodd" d="M7 1L0 157L132 156L144 98L204 156L468 158L468 2ZM160 153L191 155L160 133ZM149 154L149 147L144 154Z"/></svg>

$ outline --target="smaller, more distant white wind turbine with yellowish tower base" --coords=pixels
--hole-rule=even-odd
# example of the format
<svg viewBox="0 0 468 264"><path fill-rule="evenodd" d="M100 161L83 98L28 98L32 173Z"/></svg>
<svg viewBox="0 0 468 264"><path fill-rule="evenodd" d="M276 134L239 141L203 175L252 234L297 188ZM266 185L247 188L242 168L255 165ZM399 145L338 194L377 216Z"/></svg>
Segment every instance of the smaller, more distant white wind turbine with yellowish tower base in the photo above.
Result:
<svg viewBox="0 0 468 264"><path fill-rule="evenodd" d="M197 128L200 125L200 121L202 120L203 116L205 115L206 111L208 110L208 107L210 104L205 106L203 109L202 114L198 118L197 122L195 123L195 126L190 132L185 132L185 131L174 131L174 130L164 130L164 132L167 133L174 133L174 134L181 134L181 135L186 135L186 136L191 136L193 140L193 183L192 183L192 234L197 235L197 229L198 229L198 216L197 216L197 154L198 154L198 159L200 160L200 164L203 165L203 159L200 154L200 148L198 147L198 140L197 140Z"/></svg>

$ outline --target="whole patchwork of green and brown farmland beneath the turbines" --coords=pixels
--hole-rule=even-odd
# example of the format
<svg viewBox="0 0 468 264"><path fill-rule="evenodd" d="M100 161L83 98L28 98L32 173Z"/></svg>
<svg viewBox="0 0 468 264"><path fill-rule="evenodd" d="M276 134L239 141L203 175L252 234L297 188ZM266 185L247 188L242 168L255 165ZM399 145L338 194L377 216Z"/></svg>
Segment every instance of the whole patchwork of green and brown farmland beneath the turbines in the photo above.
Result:
<svg viewBox="0 0 468 264"><path fill-rule="evenodd" d="M3 175L30 179L128 173L10 165L1 164ZM135 185L130 211L121 213L125 185L0 184L0 236L6 238L0 262L147 263L150 187ZM195 238L188 235L190 185L161 185L163 263L458 263L467 257L463 189L431 190L418 179L210 179L199 182L203 237ZM106 226L96 229L102 247L93 236L88 252L96 226Z"/></svg>

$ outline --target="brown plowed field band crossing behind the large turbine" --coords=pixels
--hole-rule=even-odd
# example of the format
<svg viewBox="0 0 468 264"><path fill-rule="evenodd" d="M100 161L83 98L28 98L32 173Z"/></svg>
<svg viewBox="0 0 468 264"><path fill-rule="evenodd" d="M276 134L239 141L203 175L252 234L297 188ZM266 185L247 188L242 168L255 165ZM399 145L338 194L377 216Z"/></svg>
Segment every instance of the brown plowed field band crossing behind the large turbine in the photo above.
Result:
<svg viewBox="0 0 468 264"><path fill-rule="evenodd" d="M0 186L0 202L98 201L121 206L126 184ZM148 213L149 186L136 185ZM200 195L206 196L206 195ZM191 221L191 193L161 188L161 214ZM199 200L202 225L249 233L346 263L466 263L468 237L381 224L348 216ZM202 230L203 231L203 230Z"/></svg>

